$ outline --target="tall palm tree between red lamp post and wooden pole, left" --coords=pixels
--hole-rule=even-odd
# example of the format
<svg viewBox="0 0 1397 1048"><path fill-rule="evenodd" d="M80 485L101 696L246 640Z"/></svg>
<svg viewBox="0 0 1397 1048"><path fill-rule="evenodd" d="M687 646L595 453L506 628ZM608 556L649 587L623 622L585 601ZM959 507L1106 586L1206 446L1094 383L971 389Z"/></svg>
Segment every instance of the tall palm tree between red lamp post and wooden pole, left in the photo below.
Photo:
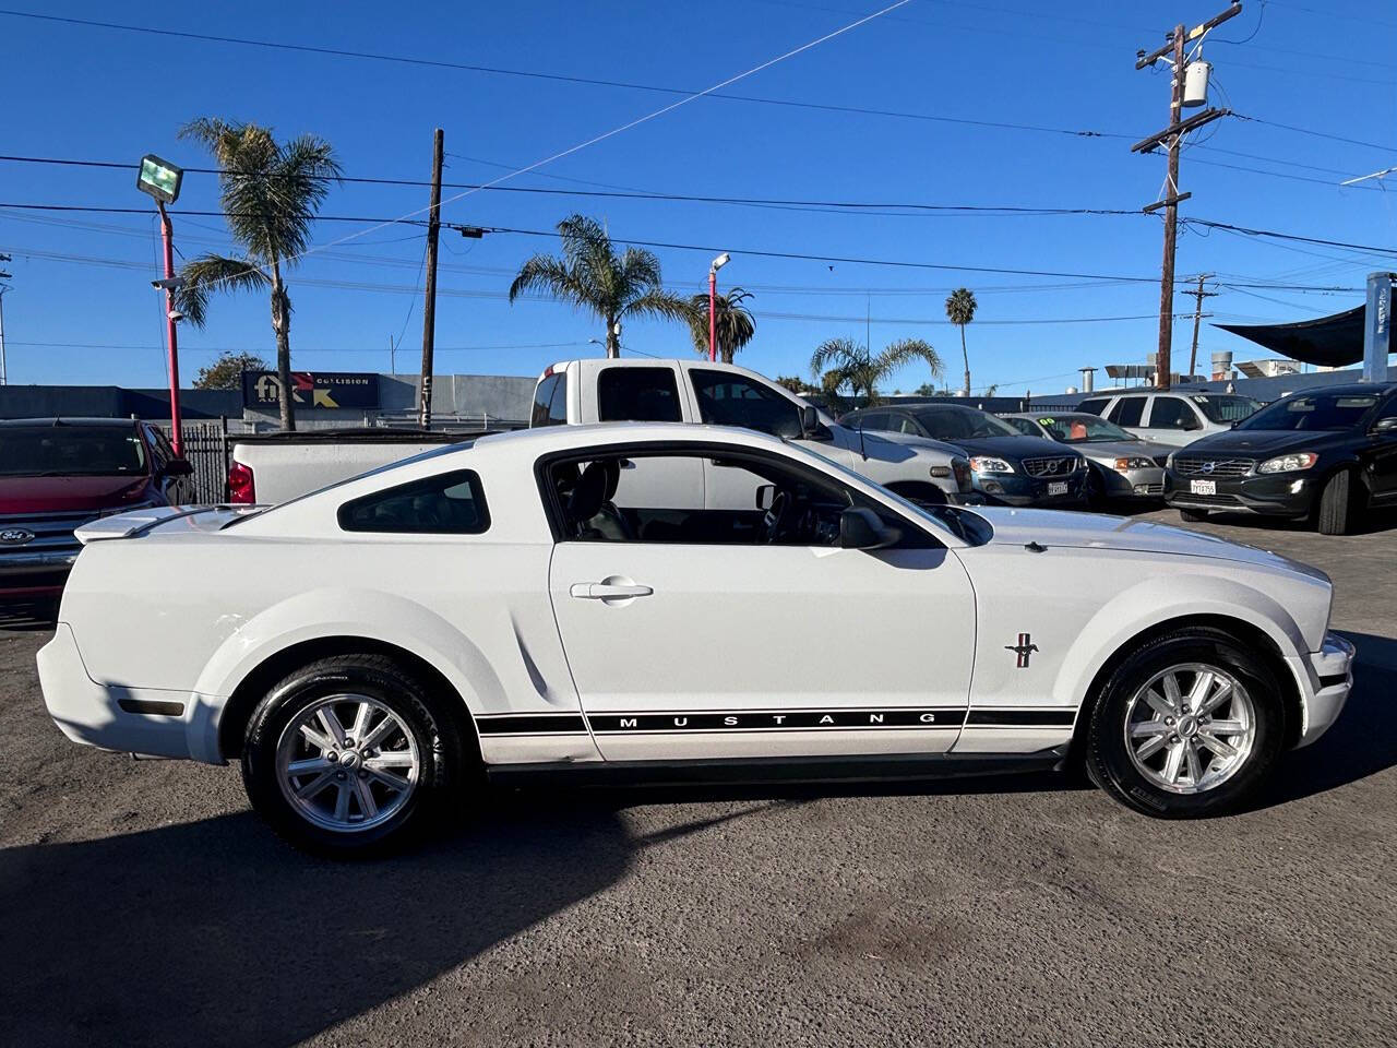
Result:
<svg viewBox="0 0 1397 1048"><path fill-rule="evenodd" d="M310 246L316 212L338 182L334 147L313 134L278 143L270 127L200 117L184 124L180 138L201 143L218 161L224 221L243 257L201 254L190 259L176 292L177 309L194 327L208 316L212 291L271 289L271 328L277 335L277 380L281 384L281 426L296 428L291 397L291 295L282 268Z"/></svg>

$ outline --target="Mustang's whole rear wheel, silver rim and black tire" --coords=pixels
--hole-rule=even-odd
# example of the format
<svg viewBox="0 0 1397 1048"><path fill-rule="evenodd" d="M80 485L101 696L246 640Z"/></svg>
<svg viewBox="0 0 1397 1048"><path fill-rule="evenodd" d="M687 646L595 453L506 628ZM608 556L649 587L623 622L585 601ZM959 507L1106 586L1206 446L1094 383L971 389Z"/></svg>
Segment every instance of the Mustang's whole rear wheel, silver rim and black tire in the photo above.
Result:
<svg viewBox="0 0 1397 1048"><path fill-rule="evenodd" d="M247 727L243 783L307 851L387 851L429 829L462 769L451 718L381 655L314 662L267 693Z"/></svg>

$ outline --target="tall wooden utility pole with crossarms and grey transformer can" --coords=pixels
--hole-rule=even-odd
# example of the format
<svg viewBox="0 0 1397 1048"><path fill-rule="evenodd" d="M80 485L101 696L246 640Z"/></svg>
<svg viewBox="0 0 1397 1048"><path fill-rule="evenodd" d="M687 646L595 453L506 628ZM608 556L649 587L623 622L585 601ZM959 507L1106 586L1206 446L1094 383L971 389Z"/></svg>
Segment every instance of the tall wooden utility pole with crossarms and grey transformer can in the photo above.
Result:
<svg viewBox="0 0 1397 1048"><path fill-rule="evenodd" d="M1168 43L1158 50L1150 54L1146 54L1143 50L1137 52L1137 70L1154 66L1154 63L1165 57L1168 57L1171 68L1169 126L1130 147L1130 152L1150 152L1158 145L1166 145L1169 151L1164 197L1144 208L1146 214L1164 208L1164 261L1160 272L1160 348L1155 358L1155 384L1162 390L1169 388L1173 370L1171 359L1173 348L1173 259L1179 231L1179 204L1193 196L1192 193L1179 193L1179 147L1183 144L1185 134L1217 120L1220 116L1227 116L1229 112L1227 109L1206 109L1201 113L1190 116L1187 120L1182 119L1183 106L1203 105L1207 94L1207 78L1204 75L1204 98L1185 99L1185 45L1201 39L1210 29L1231 18L1236 18L1241 13L1241 0L1234 0L1231 7L1221 14L1213 15L1201 25L1196 25L1192 29L1185 29L1183 22L1175 25L1173 31L1166 36Z"/></svg>

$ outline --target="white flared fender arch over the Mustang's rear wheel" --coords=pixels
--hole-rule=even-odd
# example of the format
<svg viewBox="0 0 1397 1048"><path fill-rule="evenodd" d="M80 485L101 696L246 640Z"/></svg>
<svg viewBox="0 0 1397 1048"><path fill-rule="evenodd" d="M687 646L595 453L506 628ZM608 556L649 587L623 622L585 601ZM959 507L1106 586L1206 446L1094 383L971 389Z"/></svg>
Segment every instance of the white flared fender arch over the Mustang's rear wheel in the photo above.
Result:
<svg viewBox="0 0 1397 1048"><path fill-rule="evenodd" d="M447 679L472 715L509 708L485 653L436 612L377 590L310 590L249 619L208 660L189 722L194 757L219 760L218 720L225 700L253 669L286 648L326 637L367 637L412 653Z"/></svg>

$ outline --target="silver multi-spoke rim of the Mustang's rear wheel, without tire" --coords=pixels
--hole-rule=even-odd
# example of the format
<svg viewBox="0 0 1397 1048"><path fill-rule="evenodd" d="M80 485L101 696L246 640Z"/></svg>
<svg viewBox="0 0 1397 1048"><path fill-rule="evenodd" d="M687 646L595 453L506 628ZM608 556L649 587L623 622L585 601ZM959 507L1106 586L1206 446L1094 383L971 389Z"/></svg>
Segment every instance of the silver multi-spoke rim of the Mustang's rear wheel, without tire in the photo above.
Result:
<svg viewBox="0 0 1397 1048"><path fill-rule="evenodd" d="M422 757L408 725L363 694L319 699L277 741L277 781L307 822L337 833L387 822L418 787Z"/></svg>

